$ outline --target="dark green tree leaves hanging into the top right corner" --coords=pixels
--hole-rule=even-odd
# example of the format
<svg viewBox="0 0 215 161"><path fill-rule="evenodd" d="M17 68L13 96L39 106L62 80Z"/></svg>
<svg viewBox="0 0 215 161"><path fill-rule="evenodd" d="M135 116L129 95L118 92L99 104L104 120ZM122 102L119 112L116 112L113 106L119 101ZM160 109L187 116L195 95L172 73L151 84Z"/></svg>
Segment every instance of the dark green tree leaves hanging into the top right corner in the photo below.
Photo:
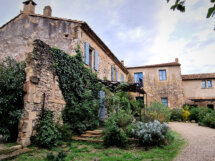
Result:
<svg viewBox="0 0 215 161"><path fill-rule="evenodd" d="M167 3L169 3L170 0L167 0ZM208 9L208 13L207 13L207 18L213 17L215 15L215 0L210 0L211 3L213 4L213 6L211 8ZM185 2L186 0L175 0L175 4L171 6L170 9L172 9L173 11L175 11L175 9L181 11L181 12L185 12Z"/></svg>

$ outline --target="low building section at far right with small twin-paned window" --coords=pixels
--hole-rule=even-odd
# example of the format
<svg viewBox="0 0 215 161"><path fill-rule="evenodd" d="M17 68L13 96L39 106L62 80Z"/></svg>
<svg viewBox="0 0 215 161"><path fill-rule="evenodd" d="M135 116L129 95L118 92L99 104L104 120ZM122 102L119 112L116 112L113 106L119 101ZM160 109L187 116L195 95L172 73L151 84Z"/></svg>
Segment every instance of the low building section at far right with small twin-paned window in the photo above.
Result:
<svg viewBox="0 0 215 161"><path fill-rule="evenodd" d="M182 75L185 102L215 109L215 73Z"/></svg>

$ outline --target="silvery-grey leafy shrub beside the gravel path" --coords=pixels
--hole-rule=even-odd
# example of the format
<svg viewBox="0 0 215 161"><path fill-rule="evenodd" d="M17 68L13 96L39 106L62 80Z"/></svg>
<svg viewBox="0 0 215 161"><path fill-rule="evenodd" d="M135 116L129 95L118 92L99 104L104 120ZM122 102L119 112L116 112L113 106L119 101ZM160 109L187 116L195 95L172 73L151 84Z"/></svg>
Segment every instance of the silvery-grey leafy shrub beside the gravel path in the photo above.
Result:
<svg viewBox="0 0 215 161"><path fill-rule="evenodd" d="M165 144L167 140L168 125L161 124L159 121L143 123L138 122L136 129L133 130L139 144L143 146L153 146Z"/></svg>

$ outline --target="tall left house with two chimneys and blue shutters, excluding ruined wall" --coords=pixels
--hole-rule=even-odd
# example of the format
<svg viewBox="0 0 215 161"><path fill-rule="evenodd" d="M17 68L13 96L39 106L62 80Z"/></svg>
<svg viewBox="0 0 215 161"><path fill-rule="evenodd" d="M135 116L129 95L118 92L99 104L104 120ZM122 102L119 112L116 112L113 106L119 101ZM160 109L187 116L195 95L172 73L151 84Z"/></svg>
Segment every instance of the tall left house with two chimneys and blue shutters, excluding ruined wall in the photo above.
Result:
<svg viewBox="0 0 215 161"><path fill-rule="evenodd" d="M0 27L0 60L12 56L25 60L28 44L35 39L57 47L70 55L80 46L86 66L100 79L127 81L128 70L86 22L52 16L50 6L43 15L35 14L33 0L23 2L24 8L15 18Z"/></svg>

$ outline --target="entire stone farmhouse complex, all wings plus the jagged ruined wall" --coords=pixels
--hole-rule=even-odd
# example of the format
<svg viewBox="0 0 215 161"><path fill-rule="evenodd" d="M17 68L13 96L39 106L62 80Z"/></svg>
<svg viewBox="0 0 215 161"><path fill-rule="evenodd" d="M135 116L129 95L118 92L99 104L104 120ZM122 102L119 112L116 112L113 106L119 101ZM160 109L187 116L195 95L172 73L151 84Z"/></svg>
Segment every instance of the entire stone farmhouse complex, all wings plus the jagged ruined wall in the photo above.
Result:
<svg viewBox="0 0 215 161"><path fill-rule="evenodd" d="M178 59L126 68L86 22L53 17L50 6L44 8L43 15L35 14L37 4L33 0L23 4L23 11L0 27L0 61L8 56L26 61L24 115L18 138L22 145L30 144L33 126L43 106L59 116L66 104L52 66L50 47L74 55L80 46L85 65L101 80L140 83L142 94L131 94L144 99L146 105L157 101L170 108L181 108L184 103L214 108L215 74L181 75Z"/></svg>

